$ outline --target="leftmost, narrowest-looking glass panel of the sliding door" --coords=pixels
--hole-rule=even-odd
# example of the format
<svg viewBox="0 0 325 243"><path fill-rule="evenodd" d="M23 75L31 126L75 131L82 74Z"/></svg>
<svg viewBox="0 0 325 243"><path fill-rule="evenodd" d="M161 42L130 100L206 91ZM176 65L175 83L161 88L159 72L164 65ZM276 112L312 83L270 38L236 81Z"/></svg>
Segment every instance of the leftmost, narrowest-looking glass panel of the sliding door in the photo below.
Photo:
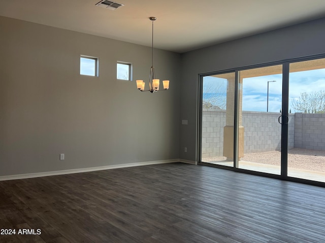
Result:
<svg viewBox="0 0 325 243"><path fill-rule="evenodd" d="M201 161L234 166L235 72L203 77Z"/></svg>

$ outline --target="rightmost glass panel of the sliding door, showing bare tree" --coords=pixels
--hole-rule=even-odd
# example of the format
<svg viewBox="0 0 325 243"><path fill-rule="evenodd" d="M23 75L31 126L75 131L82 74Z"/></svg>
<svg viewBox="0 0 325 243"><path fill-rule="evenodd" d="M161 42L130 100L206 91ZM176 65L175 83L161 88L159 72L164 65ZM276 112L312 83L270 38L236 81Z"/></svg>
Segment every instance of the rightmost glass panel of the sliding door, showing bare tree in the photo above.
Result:
<svg viewBox="0 0 325 243"><path fill-rule="evenodd" d="M289 68L294 144L288 150L288 176L325 182L325 59L290 63Z"/></svg>

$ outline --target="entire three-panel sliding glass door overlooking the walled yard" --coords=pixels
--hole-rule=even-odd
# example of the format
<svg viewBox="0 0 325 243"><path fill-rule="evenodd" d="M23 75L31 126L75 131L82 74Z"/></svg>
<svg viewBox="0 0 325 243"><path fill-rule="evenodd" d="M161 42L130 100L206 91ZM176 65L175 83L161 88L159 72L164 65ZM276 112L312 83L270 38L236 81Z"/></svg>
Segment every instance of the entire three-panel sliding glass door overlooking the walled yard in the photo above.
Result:
<svg viewBox="0 0 325 243"><path fill-rule="evenodd" d="M325 182L325 58L202 75L201 91L200 162Z"/></svg>

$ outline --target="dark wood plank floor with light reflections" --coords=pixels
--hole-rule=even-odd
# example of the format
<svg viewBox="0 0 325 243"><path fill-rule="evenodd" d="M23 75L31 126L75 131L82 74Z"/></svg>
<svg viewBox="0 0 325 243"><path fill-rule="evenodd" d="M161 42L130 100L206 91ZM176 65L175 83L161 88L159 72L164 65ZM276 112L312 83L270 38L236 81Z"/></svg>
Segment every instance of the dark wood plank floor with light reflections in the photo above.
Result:
<svg viewBox="0 0 325 243"><path fill-rule="evenodd" d="M325 188L180 163L2 181L0 229L16 229L0 242L320 243Z"/></svg>

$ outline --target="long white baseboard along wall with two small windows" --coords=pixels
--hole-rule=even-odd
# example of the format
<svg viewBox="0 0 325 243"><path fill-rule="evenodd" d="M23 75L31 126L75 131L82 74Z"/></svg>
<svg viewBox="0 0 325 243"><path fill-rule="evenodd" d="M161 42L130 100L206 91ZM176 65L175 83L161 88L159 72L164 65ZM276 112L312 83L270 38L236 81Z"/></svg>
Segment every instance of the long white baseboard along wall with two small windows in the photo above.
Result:
<svg viewBox="0 0 325 243"><path fill-rule="evenodd" d="M180 159L156 160L156 161L146 161L146 162L129 163L129 164L122 164L122 165L112 165L112 166L91 167L91 168L63 170L63 171L50 171L50 172L41 172L41 173L0 176L0 181L36 178L36 177L44 177L44 176L66 175L66 174L74 174L74 173L111 170L111 169L135 167L135 166L158 165L158 164L167 164L167 163L175 163L175 162L180 162ZM186 162L183 162L183 163L186 163Z"/></svg>

